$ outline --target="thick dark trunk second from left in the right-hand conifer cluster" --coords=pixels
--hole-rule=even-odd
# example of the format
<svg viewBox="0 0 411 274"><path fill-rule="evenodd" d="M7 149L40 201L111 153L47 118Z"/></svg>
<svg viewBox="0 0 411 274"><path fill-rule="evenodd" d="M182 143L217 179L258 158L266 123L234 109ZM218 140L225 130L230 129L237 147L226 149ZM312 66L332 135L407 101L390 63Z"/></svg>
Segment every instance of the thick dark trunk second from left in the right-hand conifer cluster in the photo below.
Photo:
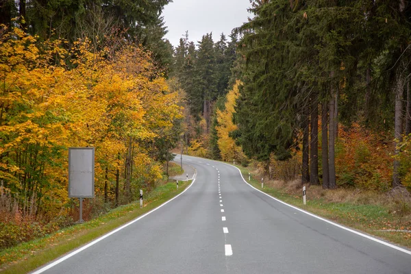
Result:
<svg viewBox="0 0 411 274"><path fill-rule="evenodd" d="M314 95L311 102L310 184L319 184L319 101Z"/></svg>

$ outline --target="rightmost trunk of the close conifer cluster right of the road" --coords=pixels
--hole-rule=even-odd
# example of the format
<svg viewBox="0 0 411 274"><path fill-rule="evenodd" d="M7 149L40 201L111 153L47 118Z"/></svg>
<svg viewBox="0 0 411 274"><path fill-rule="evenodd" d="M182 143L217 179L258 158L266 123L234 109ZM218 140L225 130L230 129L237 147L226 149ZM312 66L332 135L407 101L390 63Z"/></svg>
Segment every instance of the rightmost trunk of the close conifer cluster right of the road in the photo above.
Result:
<svg viewBox="0 0 411 274"><path fill-rule="evenodd" d="M336 166L335 166L335 127L334 127L334 109L335 92L331 89L331 98L329 100L329 136L328 136L328 169L329 169L329 188L336 188Z"/></svg>

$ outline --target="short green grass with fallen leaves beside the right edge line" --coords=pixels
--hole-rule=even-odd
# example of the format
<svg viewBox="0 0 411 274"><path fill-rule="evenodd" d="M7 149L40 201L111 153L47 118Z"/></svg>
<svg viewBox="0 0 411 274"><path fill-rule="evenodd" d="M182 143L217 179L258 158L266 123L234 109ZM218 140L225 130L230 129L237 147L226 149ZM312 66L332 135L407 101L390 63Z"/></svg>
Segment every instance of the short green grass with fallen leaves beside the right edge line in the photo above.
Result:
<svg viewBox="0 0 411 274"><path fill-rule="evenodd" d="M237 165L236 165L237 166ZM242 176L248 180L249 168L237 166ZM314 199L309 197L307 204L303 204L301 195L290 195L282 189L270 188L264 185L261 188L261 182L251 177L249 182L255 188L266 192L267 194L280 199L292 206L297 206L308 212L323 216L326 219L336 221L347 227L361 230L380 238L384 238L398 245L411 248L411 234L405 232L384 232L384 229L404 229L411 227L409 219L401 219L398 216L390 214L390 210L378 204L354 204L349 202L329 202L325 199ZM329 190L332 191L332 190Z"/></svg>

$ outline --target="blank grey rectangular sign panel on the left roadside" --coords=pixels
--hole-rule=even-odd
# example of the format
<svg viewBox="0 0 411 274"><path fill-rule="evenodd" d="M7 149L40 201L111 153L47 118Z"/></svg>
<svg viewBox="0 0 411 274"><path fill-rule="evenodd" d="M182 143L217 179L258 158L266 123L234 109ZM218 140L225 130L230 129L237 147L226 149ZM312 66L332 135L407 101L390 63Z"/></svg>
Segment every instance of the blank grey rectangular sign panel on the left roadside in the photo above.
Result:
<svg viewBox="0 0 411 274"><path fill-rule="evenodd" d="M94 197L94 147L69 148L69 197Z"/></svg>

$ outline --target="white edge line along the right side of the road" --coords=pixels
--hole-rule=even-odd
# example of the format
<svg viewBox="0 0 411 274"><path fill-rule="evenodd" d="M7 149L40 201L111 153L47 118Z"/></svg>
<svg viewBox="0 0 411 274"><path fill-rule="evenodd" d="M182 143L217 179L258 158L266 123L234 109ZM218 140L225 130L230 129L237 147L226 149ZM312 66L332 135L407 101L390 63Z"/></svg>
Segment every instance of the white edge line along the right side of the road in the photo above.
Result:
<svg viewBox="0 0 411 274"><path fill-rule="evenodd" d="M227 164L227 163L225 163L225 162L221 162L221 163L222 163L222 164ZM227 165L228 165L228 166L233 166L232 164L227 164ZM233 166L233 167L235 167L236 169L238 169L237 166ZM251 184L249 184L249 183L244 179L244 177L242 177L242 173L241 173L240 169L238 169L238 171L240 172L241 178L242 178L242 180L245 182L245 184L248 184L249 186L251 186ZM295 210L299 210L300 212L306 213L307 215L310 215L310 216L312 216L312 217L314 217L314 218L316 218L316 219L319 219L319 220L321 220L321 221L324 221L325 223L329 223L330 225L334 225L334 226L336 226L336 227L340 227L341 229L347 230L348 232L351 232L351 233L353 233L353 234L357 234L358 236L362 236L362 237L367 238L367 239L369 239L369 240L373 240L374 242L378 242L378 243L380 243L380 244L382 244L382 245L385 245L385 246L387 246L387 247L391 247L391 248L393 248L393 249L397 249L398 251L401 251L401 252L403 252L403 253L407 253L408 255L411 255L411 251L409 251L409 250L407 250L407 249L403 249L403 248L401 248L401 247L397 247L396 245L392 245L392 244L390 244L389 242L384 242L384 240L379 240L379 239L377 239L377 238L374 238L374 237L371 237L371 236L369 236L369 235L363 234L363 233L358 232L358 231L356 231L356 230L353 230L353 229L351 229L351 228L345 227L345 226L343 226L343 225L339 225L338 223L334 223L334 222L332 222L332 221L329 221L329 220L327 220L327 219L324 219L323 217L320 217L320 216L317 216L316 214L312 214L312 213L310 213L310 212L307 212L306 210L301 210L301 208L297 208L296 206L291 206L290 204L288 204L288 203L286 203L286 202L284 202L284 201L281 201L281 200L279 200L279 199L277 199L277 198L275 198L275 197L273 197L273 196L271 196L271 195L266 194L266 192L263 192L263 191L259 190L258 188L255 188L254 186L251 186L251 188L254 188L255 190L257 190L257 191L261 192L262 194L270 197L271 199L274 199L275 201L278 201L279 203L282 203L282 204L284 204L284 205L286 205L286 206L289 206L290 208L294 208Z"/></svg>

